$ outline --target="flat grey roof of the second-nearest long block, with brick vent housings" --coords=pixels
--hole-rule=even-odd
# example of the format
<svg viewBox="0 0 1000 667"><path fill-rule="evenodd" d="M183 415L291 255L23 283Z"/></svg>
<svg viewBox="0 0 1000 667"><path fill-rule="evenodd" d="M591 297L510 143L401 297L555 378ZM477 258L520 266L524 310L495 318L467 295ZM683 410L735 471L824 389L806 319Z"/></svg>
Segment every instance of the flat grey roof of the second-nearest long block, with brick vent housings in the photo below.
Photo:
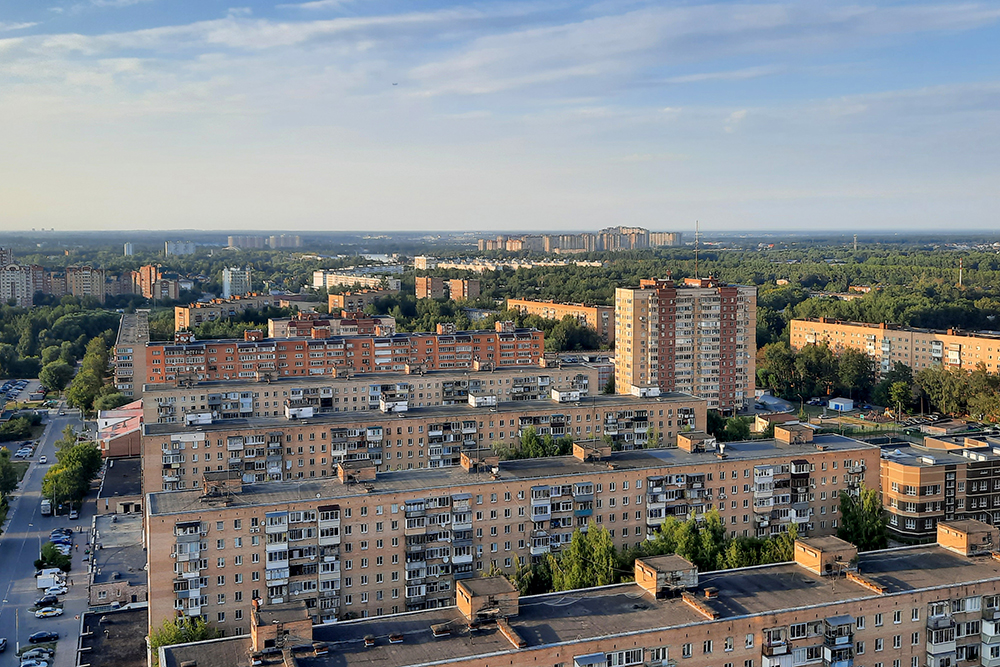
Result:
<svg viewBox="0 0 1000 667"><path fill-rule="evenodd" d="M774 440L751 440L726 443L726 461L755 461L782 457L795 459L814 453L814 445L825 446L826 451L857 451L877 449L874 445L836 434L818 435L811 445L785 445ZM798 455L798 456L797 456ZM711 452L691 453L682 449L647 449L632 452L613 452L599 462L580 461L573 456L550 456L540 459L521 459L500 462L499 482L493 482L489 473L470 473L459 466L449 468L417 468L393 470L376 475L365 485L344 484L336 477L320 478L306 482L263 482L243 487L243 491L227 496L230 506L260 506L281 503L300 503L315 499L337 500L352 496L371 496L379 493L454 488L474 484L503 484L504 479L539 479L579 475L587 478L608 471L613 464L618 470L662 469L668 466L686 466L698 463L718 463ZM372 491L366 487L371 486ZM206 507L202 490L161 491L148 496L150 516L202 511Z"/></svg>

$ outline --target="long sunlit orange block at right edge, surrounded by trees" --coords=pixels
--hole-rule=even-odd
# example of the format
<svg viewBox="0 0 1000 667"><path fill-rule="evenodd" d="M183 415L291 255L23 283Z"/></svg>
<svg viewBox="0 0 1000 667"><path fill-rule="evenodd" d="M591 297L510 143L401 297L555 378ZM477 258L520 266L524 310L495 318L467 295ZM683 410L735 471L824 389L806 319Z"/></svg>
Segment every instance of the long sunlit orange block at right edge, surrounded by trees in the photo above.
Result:
<svg viewBox="0 0 1000 667"><path fill-rule="evenodd" d="M789 342L794 350L824 343L834 352L860 350L878 362L882 373L892 370L896 362L914 371L938 364L972 370L980 363L990 372L1000 371L1000 334L994 332L917 329L821 317L792 320Z"/></svg>

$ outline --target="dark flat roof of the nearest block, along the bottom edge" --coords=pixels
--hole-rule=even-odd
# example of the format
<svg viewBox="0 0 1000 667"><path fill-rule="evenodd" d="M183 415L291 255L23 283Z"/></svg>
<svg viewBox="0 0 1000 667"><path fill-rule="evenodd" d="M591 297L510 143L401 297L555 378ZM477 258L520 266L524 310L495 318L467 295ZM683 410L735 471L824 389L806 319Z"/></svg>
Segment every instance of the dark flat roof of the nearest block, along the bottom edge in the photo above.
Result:
<svg viewBox="0 0 1000 667"><path fill-rule="evenodd" d="M699 606L713 613L715 620L707 620L681 598L658 600L636 584L619 584L522 597L518 615L507 619L523 641L520 649L513 648L492 625L470 630L457 607L445 607L316 626L313 640L326 642L330 652L324 656L299 653L296 659L300 667L373 663L403 667L487 656L513 657L518 664L530 663L532 658L527 652L532 649L565 646L572 655L572 646L583 642L797 609L808 608L809 618L822 618L835 613L825 614L816 607L1000 579L1000 562L989 557L960 556L937 545L861 554L859 570L884 594L842 577L820 576L795 563L779 563L701 574L695 596ZM716 589L718 596L705 598L702 592L708 588ZM447 626L451 634L435 637L431 627L438 625ZM390 634L402 634L402 642L390 644ZM366 637L374 637L375 645L366 647ZM245 638L234 638L232 642L244 650L249 647ZM233 646L218 641L169 647L167 667L177 667L195 657L214 667L236 665L228 656L239 655L240 660L245 660L246 654L234 651ZM587 651L584 646L578 650L581 654Z"/></svg>

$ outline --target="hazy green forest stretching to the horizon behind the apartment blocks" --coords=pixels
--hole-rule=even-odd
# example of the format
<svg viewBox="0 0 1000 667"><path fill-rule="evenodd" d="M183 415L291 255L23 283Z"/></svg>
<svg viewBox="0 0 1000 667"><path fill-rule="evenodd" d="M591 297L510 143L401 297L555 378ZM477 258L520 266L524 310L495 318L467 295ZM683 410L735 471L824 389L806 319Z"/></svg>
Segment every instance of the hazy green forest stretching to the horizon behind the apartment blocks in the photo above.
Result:
<svg viewBox="0 0 1000 667"><path fill-rule="evenodd" d="M773 238L729 239L725 247L706 245L698 253L697 273L713 275L727 282L756 285L758 292L757 346L758 385L789 397L803 394L822 395L848 392L856 397L889 401L889 388L874 370L856 359L842 360L828 351L812 350L793 354L787 349L787 326L796 317L826 316L864 322L962 329L1000 329L1000 254L986 243L968 246L932 245L898 240L861 243L855 251L844 240L785 240ZM992 239L981 241L992 242ZM318 252L308 247L302 251L254 250L223 251L219 248L200 250L183 257L162 257L150 245L136 256L122 257L119 248L78 243L68 252L18 252L17 261L38 263L48 267L72 263L92 263L103 266L109 275L137 268L150 262L159 263L164 271L195 281L195 289L182 294L187 302L221 291L221 272L225 266L250 265L254 269L256 289L305 291L325 308L326 291L309 288L312 271L319 268L370 264L357 256L368 252L399 252L404 258L414 254L442 257L479 255L474 248L440 241L437 245L414 240L345 243L324 248L327 257L311 256ZM15 251L17 252L15 246ZM331 254L337 257L330 257ZM488 253L499 258L498 253ZM509 255L504 255L509 257ZM519 255L530 257L528 253ZM691 246L622 253L591 253L574 255L570 259L600 260L603 267L541 267L502 270L470 274L458 270L414 272L399 276L403 281L400 295L382 299L372 313L389 314L396 318L401 331L431 330L438 322L456 322L462 328L488 328L498 319L515 319L523 326L545 330L546 347L550 351L585 350L599 347L600 342L590 331L566 320L556 322L538 317L521 317L504 311L507 297L554 299L557 301L611 304L616 286L636 284L640 278L665 277L675 279L696 273L695 251ZM959 285L959 261L964 270ZM422 274L443 277L475 277L482 283L482 295L473 302L446 300L416 300L413 296L414 277ZM787 281L779 285L778 281ZM853 301L824 297L823 292L844 292L849 286L871 286L870 293ZM347 289L347 288L345 288ZM150 307L139 297L118 297L103 308L96 302L73 297L53 299L41 297L32 309L0 305L0 375L33 376L41 368L43 349L68 342L75 356L82 354L83 340L106 332L114 326L115 309L129 310ZM174 303L153 305L152 332L166 338L173 331ZM472 320L463 308L494 311L486 319ZM293 311L271 310L249 312L236 320L215 323L196 331L202 338L240 336L247 328L266 323L267 317L287 316ZM843 362L843 363L842 363ZM844 368L841 366L844 365ZM936 407L945 412L977 411L983 418L1000 418L1000 406L994 409L986 402L956 397L946 389L953 385L969 387L970 378L912 377L905 373L893 376L894 382L907 385L912 400L908 405ZM930 374L925 374L930 375ZM973 394L995 393L993 376L975 380ZM881 385L881 388L879 386ZM878 390L876 392L876 390ZM903 396L897 387L896 397ZM973 397L974 398L974 397ZM798 400L798 398L796 398ZM905 406L904 406L905 407Z"/></svg>

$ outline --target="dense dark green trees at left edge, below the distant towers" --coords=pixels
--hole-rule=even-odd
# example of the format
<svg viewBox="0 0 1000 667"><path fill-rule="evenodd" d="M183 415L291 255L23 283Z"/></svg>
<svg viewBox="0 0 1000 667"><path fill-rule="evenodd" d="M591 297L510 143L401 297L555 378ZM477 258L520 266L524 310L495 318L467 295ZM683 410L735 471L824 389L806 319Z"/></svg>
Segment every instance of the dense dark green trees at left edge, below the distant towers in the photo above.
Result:
<svg viewBox="0 0 1000 667"><path fill-rule="evenodd" d="M92 338L118 329L121 316L97 305L76 297L56 306L0 305L0 377L37 377L56 359L76 363Z"/></svg>

